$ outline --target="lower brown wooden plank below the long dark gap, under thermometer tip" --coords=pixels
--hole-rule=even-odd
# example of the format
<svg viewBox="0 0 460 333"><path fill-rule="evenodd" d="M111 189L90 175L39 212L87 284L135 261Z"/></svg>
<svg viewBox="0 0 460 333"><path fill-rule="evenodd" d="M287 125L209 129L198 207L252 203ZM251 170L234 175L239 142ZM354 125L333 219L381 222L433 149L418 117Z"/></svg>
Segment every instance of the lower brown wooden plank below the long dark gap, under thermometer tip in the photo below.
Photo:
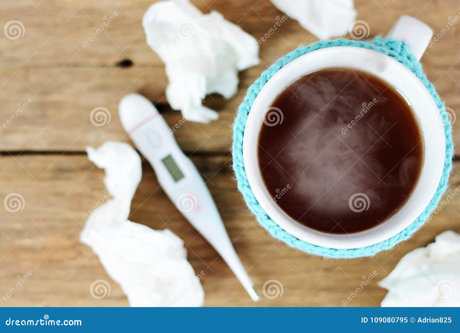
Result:
<svg viewBox="0 0 460 333"><path fill-rule="evenodd" d="M171 228L184 240L195 272L204 273L201 282L208 306L342 306L371 275L374 280L346 305L376 306L386 293L376 282L404 254L427 245L444 230L460 231L460 196L454 196L426 227L391 251L352 260L312 257L271 238L245 210L232 181L229 158L193 160L208 179L230 238L259 292L269 280L278 280L283 287L281 297L263 296L254 304L223 260L158 188L152 169L144 162L130 219L155 229ZM79 243L83 214L104 194L103 171L83 154L2 156L0 165L0 198L16 192L25 202L23 210L15 213L0 210L0 296L7 295L18 275L32 273L2 306L126 306L127 299L98 257ZM453 189L460 186L457 169L451 178ZM91 297L89 287L98 279L109 282L108 298Z"/></svg>

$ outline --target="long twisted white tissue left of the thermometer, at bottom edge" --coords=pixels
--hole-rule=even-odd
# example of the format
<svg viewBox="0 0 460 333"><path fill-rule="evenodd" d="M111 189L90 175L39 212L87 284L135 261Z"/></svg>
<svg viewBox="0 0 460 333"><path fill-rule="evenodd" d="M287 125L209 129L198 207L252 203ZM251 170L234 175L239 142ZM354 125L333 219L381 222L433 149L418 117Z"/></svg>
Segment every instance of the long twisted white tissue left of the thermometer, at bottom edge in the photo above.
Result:
<svg viewBox="0 0 460 333"><path fill-rule="evenodd" d="M131 306L202 306L201 283L187 261L184 242L169 229L157 231L128 220L142 177L138 153L108 141L88 158L105 169L105 191L113 199L89 216L81 242L91 246Z"/></svg>

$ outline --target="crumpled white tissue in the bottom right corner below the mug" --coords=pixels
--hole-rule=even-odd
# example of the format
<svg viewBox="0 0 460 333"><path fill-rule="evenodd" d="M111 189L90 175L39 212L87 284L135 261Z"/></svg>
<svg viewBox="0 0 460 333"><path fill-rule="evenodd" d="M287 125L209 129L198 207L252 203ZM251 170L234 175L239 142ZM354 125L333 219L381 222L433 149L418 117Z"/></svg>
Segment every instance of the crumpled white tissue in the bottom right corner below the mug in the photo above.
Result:
<svg viewBox="0 0 460 333"><path fill-rule="evenodd" d="M378 285L388 289L381 306L460 306L460 236L445 231L406 254Z"/></svg>

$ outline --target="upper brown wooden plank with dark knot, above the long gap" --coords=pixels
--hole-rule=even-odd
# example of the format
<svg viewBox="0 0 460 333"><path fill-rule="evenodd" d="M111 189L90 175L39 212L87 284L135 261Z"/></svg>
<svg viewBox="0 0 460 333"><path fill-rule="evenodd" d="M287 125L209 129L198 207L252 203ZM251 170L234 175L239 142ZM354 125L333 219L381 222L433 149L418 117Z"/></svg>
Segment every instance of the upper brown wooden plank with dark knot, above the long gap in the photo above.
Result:
<svg viewBox="0 0 460 333"><path fill-rule="evenodd" d="M216 10L260 40L280 19L269 1L193 1L202 11ZM3 1L0 10L23 22L23 38L0 38L0 125L16 112L17 104L33 103L17 120L1 132L1 151L74 151L104 140L125 140L117 116L123 94L140 92L159 103L167 122L180 119L178 111L167 106L164 91L167 78L161 60L145 43L141 18L150 0L87 1L72 4L46 1L34 5L27 0ZM121 6L124 6L121 8ZM253 6L251 8L251 6ZM380 8L380 6L382 6ZM385 34L402 13L417 16L441 33L455 17L460 5L455 1L356 1L358 19L366 21L370 35ZM249 9L249 10L247 10ZM82 46L104 22L104 16L118 13L87 47ZM246 12L246 13L245 13ZM276 58L299 44L316 41L294 20L285 20L260 46L261 64L240 74L238 93L230 100L208 96L206 105L219 111L220 119L208 125L186 123L177 131L184 151L229 152L235 109L247 87ZM426 73L454 111L460 109L460 32L456 24L443 33L422 58ZM116 64L132 59L129 68ZM111 122L94 127L89 113L103 106ZM454 142L459 142L460 122L454 123ZM208 138L209 136L209 138Z"/></svg>

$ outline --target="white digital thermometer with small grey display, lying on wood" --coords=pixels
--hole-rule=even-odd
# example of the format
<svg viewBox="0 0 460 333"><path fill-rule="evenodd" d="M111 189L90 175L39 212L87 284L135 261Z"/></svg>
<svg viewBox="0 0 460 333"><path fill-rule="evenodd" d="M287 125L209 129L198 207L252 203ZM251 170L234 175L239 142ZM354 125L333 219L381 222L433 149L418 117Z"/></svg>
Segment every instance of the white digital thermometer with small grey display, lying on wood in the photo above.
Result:
<svg viewBox="0 0 460 333"><path fill-rule="evenodd" d="M132 93L121 99L119 111L123 128L152 165L169 199L224 258L253 301L259 301L260 296L236 255L211 193L155 106L144 96Z"/></svg>

